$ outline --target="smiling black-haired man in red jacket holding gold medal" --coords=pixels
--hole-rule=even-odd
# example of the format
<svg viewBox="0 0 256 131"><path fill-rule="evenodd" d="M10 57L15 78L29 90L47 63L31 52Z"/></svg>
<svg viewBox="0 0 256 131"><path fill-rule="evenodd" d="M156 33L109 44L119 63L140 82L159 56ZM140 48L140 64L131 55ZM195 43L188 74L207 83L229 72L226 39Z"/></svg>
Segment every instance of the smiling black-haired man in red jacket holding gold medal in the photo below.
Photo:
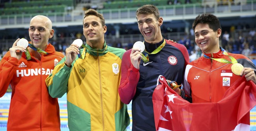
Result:
<svg viewBox="0 0 256 131"><path fill-rule="evenodd" d="M185 92L183 98L192 98L193 103L219 102L241 76L256 84L253 62L242 54L228 53L220 47L221 26L216 16L211 13L197 16L193 29L203 56L186 66L183 89L176 91L180 96ZM248 128L249 113L245 119L243 126Z"/></svg>

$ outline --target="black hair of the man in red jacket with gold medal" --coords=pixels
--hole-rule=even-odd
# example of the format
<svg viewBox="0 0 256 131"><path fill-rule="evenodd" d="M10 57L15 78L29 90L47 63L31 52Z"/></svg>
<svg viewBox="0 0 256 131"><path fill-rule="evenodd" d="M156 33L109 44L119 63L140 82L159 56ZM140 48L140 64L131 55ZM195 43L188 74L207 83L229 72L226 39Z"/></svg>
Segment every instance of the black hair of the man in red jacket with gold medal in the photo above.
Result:
<svg viewBox="0 0 256 131"><path fill-rule="evenodd" d="M198 15L195 18L195 21L192 25L192 28L194 31L195 31L195 26L199 23L208 24L209 28L213 29L214 32L216 32L218 29L221 29L219 19L211 13L203 13L202 15Z"/></svg>

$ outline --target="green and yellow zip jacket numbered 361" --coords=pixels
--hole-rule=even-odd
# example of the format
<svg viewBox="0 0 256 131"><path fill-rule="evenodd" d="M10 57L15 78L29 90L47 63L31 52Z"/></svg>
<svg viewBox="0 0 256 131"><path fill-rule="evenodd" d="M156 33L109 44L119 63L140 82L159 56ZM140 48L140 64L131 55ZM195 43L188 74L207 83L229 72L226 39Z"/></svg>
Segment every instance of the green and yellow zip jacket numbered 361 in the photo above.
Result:
<svg viewBox="0 0 256 131"><path fill-rule="evenodd" d="M76 57L71 67L67 67L64 57L57 64L45 80L48 92L59 98L67 92L70 131L124 131L130 117L127 105L118 95L118 86L125 50L106 43L105 50L85 46L87 49L80 50L84 59Z"/></svg>

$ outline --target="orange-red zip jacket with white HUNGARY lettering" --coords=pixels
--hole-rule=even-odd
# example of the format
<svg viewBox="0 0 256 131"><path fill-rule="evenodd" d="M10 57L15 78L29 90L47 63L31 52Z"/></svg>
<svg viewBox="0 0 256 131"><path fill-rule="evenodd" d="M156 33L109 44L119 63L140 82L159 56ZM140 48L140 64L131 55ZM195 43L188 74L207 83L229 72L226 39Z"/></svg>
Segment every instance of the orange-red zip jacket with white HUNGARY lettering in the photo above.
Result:
<svg viewBox="0 0 256 131"><path fill-rule="evenodd" d="M0 97L12 87L7 131L60 131L58 100L48 94L45 79L64 55L51 44L45 51L41 60L7 52L0 61Z"/></svg>

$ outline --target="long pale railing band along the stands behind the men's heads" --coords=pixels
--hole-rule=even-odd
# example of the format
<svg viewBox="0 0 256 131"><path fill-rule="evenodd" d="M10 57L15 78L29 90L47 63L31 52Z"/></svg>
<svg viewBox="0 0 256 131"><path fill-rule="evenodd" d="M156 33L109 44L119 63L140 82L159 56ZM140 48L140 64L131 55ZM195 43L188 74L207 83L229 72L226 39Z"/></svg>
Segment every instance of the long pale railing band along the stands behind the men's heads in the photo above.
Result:
<svg viewBox="0 0 256 131"><path fill-rule="evenodd" d="M214 13L218 17L235 17L235 16L255 16L256 15L256 0L251 0L246 4L221 5L214 2L209 6L203 3L184 4L184 5L167 5L159 6L161 16L165 20L185 20L194 19L196 15L201 13ZM123 8L112 10L98 10L104 15L106 24L111 23L130 23L136 22L137 8ZM1 15L0 29L6 28L24 28L29 24L30 19L35 15L46 15L49 17L53 26L69 26L81 25L83 21L83 10L59 13L38 13L38 14L20 14L20 15Z"/></svg>

